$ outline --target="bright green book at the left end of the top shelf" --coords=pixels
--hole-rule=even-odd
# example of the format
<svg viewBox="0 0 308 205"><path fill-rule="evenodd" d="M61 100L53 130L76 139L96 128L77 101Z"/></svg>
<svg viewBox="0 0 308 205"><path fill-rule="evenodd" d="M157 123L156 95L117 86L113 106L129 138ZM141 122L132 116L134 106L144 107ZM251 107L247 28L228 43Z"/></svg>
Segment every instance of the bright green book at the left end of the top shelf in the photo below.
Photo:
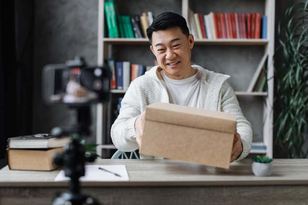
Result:
<svg viewBox="0 0 308 205"><path fill-rule="evenodd" d="M109 37L120 37L117 25L115 2L113 0L105 1L104 8Z"/></svg>

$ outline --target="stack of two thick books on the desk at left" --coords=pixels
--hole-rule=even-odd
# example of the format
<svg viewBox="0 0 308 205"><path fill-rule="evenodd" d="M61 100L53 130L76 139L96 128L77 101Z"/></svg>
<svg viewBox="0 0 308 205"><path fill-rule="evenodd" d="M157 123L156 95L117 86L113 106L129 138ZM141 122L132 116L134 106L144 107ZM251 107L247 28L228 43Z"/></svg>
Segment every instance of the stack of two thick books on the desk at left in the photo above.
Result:
<svg viewBox="0 0 308 205"><path fill-rule="evenodd" d="M54 154L63 151L70 137L54 134L19 136L7 140L7 162L10 170L51 171L59 166L53 162Z"/></svg>

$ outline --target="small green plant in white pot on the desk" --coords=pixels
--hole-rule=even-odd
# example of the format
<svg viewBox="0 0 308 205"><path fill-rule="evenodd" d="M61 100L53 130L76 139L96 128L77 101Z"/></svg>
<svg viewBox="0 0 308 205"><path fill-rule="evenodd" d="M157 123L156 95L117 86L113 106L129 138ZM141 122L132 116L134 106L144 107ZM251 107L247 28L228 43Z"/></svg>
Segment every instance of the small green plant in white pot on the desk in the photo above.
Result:
<svg viewBox="0 0 308 205"><path fill-rule="evenodd" d="M255 176L270 176L272 174L273 159L268 156L257 155L252 158L252 172Z"/></svg>

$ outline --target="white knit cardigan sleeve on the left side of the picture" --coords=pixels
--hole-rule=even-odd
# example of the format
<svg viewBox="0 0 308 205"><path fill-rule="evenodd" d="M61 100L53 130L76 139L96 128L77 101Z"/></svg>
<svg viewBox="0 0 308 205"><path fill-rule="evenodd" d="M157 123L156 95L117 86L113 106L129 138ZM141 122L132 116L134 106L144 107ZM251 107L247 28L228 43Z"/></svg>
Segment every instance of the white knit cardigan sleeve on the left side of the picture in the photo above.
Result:
<svg viewBox="0 0 308 205"><path fill-rule="evenodd" d="M138 89L132 82L123 97L120 114L111 126L112 142L120 151L134 151L139 147L135 138L135 120L141 112Z"/></svg>

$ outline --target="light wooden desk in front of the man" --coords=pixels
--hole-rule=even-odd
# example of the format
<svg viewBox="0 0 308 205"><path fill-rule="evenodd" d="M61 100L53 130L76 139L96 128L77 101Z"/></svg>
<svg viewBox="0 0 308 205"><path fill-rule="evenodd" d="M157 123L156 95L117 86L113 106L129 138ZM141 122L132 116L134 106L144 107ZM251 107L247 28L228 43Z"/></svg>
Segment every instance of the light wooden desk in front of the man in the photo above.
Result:
<svg viewBox="0 0 308 205"><path fill-rule="evenodd" d="M251 160L229 170L175 160L110 160L93 164L126 165L130 181L83 182L82 192L102 205L307 205L308 159L275 159L273 175L254 176ZM59 171L0 171L0 205L51 205Z"/></svg>

